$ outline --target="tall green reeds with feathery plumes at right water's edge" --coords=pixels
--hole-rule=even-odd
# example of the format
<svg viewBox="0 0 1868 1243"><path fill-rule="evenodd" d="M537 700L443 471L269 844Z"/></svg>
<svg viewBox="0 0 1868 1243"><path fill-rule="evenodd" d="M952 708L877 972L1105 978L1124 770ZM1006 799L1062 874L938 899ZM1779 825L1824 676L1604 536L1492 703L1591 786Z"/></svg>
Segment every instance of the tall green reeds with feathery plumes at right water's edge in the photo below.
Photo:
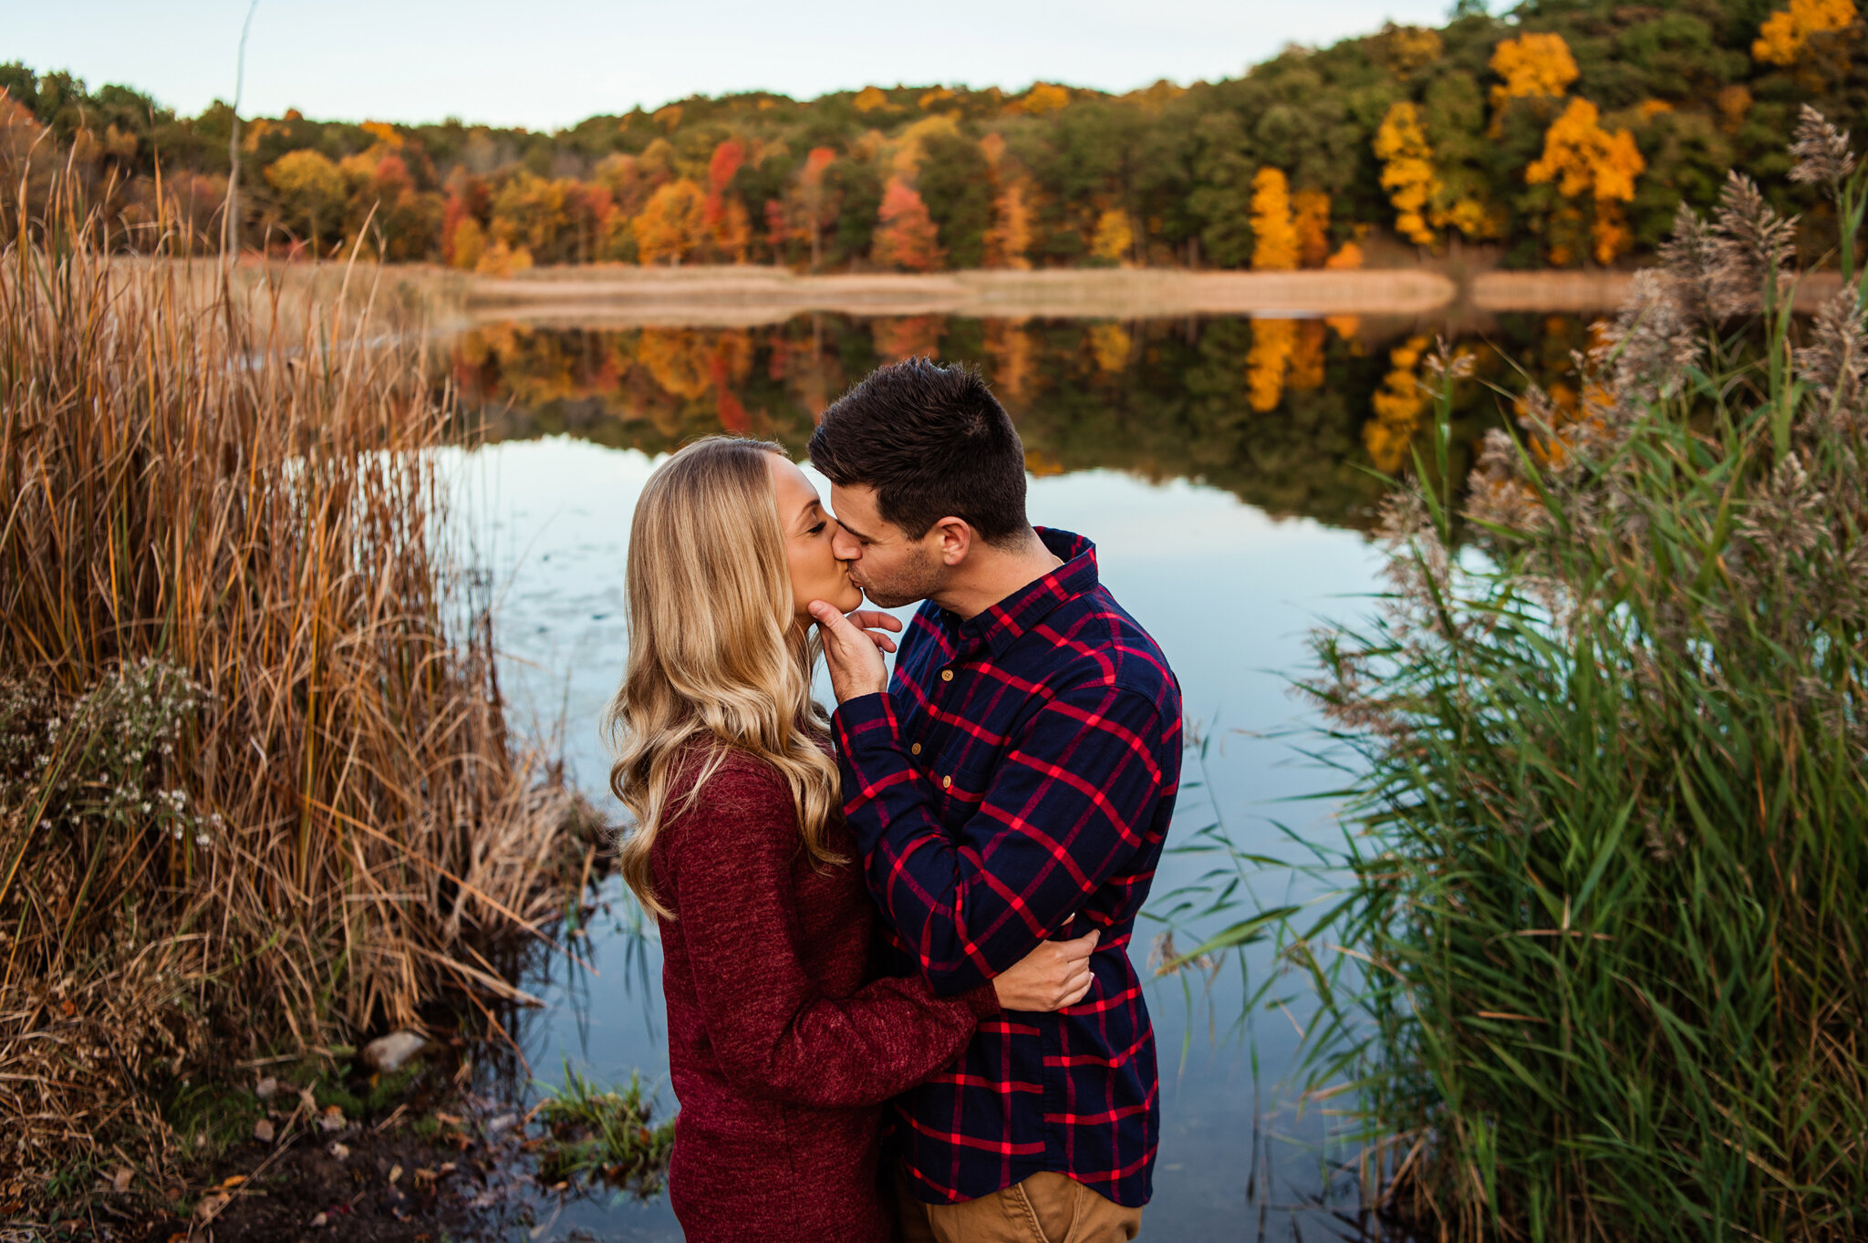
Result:
<svg viewBox="0 0 1868 1243"><path fill-rule="evenodd" d="M1797 155L1859 228L1846 134ZM1868 323L1851 254L1791 321L1791 237L1741 179L1683 211L1582 409L1487 444L1479 551L1442 358L1395 590L1319 636L1360 831L1295 946L1354 956L1313 1086L1442 1237L1868 1234Z"/></svg>

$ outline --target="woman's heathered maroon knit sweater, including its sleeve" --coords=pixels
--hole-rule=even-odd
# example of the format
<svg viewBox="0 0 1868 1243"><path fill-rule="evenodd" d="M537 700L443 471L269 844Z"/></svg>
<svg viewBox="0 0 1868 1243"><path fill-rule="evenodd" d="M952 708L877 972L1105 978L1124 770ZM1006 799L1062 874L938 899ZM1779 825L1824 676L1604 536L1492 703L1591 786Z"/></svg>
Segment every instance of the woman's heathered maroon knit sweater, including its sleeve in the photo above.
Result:
<svg viewBox="0 0 1868 1243"><path fill-rule="evenodd" d="M689 750L682 780L700 767ZM729 752L691 806L684 789L650 853L674 911L661 920L674 1215L687 1243L885 1243L882 1103L960 1054L999 1010L992 985L943 1000L921 978L870 980L863 877L813 862L770 765ZM828 845L856 859L841 817Z"/></svg>

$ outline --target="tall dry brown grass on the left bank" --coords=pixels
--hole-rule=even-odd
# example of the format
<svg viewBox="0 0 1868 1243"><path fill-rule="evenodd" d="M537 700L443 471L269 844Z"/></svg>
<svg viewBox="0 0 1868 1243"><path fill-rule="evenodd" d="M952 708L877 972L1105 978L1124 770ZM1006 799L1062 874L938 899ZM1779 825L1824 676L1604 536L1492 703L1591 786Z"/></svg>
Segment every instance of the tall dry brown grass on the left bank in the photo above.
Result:
<svg viewBox="0 0 1868 1243"><path fill-rule="evenodd" d="M118 263L71 196L17 218L0 1204L127 1133L159 1161L164 1079L510 999L476 944L545 915L570 812L463 595L445 401L368 293Z"/></svg>

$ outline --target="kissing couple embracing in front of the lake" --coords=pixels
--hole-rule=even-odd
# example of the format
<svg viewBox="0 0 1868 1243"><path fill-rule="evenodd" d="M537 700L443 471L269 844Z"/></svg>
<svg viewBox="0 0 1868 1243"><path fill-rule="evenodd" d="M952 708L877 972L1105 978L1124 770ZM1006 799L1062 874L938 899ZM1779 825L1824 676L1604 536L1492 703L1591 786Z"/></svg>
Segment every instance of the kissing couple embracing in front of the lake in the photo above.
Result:
<svg viewBox="0 0 1868 1243"><path fill-rule="evenodd" d="M1179 683L1095 545L1027 521L975 371L880 368L811 463L835 517L777 444L697 440L630 528L611 788L661 929L674 1215L689 1243L1132 1239L1160 1081L1128 944ZM900 651L865 595L921 601Z"/></svg>

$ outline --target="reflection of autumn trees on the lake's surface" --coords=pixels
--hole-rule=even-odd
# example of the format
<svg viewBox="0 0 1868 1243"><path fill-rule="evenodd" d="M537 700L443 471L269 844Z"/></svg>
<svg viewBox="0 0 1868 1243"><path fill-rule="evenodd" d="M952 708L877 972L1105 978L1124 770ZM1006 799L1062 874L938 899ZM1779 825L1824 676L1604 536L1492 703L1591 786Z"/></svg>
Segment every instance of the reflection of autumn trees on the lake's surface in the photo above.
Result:
<svg viewBox="0 0 1868 1243"><path fill-rule="evenodd" d="M908 355L979 362L1031 468L1192 478L1276 515L1364 526L1429 416L1418 381L1435 325L1334 319L1040 321L800 315L755 328L473 328L446 353L489 439L566 433L659 454L710 431L801 452L818 411ZM1515 315L1451 332L1470 448L1528 373L1565 394L1586 325ZM1465 476L1465 461L1453 463Z"/></svg>

